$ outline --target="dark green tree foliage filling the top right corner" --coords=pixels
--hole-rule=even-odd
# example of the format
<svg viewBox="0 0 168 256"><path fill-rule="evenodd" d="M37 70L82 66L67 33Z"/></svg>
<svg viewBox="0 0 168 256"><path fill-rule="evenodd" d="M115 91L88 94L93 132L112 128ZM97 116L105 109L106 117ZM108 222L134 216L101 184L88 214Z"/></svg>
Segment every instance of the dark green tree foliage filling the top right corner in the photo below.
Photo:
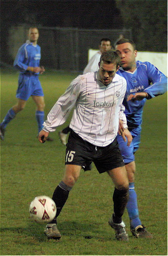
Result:
<svg viewBox="0 0 168 256"><path fill-rule="evenodd" d="M167 52L167 0L118 0L116 7L139 51Z"/></svg>

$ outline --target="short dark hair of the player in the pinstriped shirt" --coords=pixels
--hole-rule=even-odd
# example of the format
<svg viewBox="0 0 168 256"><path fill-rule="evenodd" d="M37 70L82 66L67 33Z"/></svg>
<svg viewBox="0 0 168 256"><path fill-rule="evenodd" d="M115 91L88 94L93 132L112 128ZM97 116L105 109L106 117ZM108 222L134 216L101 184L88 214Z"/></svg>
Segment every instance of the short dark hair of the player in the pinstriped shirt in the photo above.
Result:
<svg viewBox="0 0 168 256"><path fill-rule="evenodd" d="M120 63L120 57L119 55L115 52L115 51L107 51L107 52L103 52L100 56L100 64L101 61L110 64L116 64L116 68L119 66Z"/></svg>

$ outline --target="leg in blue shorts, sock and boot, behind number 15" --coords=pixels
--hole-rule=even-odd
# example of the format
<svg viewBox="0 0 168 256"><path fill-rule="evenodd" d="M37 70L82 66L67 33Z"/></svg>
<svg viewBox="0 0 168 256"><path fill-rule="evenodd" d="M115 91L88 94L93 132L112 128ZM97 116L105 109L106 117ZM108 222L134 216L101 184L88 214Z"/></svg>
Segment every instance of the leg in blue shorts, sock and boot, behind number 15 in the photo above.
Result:
<svg viewBox="0 0 168 256"><path fill-rule="evenodd" d="M136 172L136 164L134 152L139 148L140 133L139 136L133 137L131 145L128 147L127 142L124 142L121 136L117 136L119 148L122 153L122 157L125 162L125 169L127 171L129 179L129 199L127 202L127 212L130 218L130 230L136 237L152 238L152 235L145 229L139 218L139 210L137 203L137 195L134 189L134 180Z"/></svg>

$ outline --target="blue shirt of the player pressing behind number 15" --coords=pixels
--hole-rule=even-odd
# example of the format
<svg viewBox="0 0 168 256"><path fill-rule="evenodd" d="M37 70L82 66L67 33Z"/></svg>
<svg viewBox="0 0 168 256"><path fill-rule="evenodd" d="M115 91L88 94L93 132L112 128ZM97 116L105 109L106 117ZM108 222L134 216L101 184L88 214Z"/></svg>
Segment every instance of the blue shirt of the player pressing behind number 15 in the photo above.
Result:
<svg viewBox="0 0 168 256"><path fill-rule="evenodd" d="M136 61L136 70L133 73L123 70L122 67L117 73L127 81L123 105L125 106L128 128L131 134L136 136L141 131L140 125L146 99L127 102L127 96L138 92L146 92L148 93L148 99L151 99L161 95L167 91L167 77L147 61Z"/></svg>

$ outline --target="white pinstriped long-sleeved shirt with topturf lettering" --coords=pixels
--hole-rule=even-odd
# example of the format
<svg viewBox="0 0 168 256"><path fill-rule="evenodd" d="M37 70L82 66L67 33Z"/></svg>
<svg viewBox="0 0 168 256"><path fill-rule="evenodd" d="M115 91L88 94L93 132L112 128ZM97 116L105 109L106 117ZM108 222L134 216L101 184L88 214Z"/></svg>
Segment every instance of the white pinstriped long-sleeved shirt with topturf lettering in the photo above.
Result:
<svg viewBox="0 0 168 256"><path fill-rule="evenodd" d="M125 78L117 74L107 86L101 83L98 71L78 76L49 112L43 130L55 131L75 106L70 128L93 145L109 145L117 135L119 117L127 127L122 105L126 87Z"/></svg>

